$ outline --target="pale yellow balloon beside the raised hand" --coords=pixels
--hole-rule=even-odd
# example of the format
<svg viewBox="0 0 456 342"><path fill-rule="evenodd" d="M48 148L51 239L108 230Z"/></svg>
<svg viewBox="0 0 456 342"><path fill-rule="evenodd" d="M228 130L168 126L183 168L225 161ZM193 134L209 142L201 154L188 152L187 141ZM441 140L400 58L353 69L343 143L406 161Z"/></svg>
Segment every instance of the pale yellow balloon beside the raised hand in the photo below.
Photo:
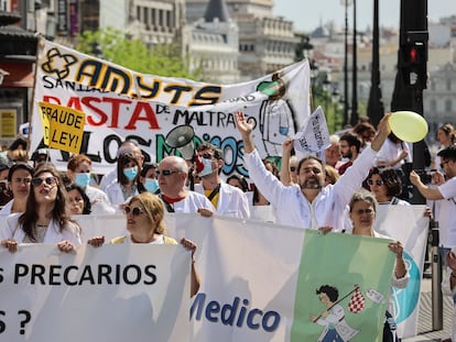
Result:
<svg viewBox="0 0 456 342"><path fill-rule="evenodd" d="M416 143L427 134L426 120L412 111L393 112L389 122L394 135L405 142Z"/></svg>

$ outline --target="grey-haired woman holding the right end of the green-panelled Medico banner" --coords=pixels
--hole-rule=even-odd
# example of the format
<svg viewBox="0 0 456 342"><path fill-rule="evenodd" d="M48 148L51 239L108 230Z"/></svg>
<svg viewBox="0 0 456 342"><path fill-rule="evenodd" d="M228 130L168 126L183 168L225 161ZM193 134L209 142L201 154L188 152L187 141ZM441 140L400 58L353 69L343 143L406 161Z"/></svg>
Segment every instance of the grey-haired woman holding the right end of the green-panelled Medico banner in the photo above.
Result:
<svg viewBox="0 0 456 342"><path fill-rule="evenodd" d="M374 195L365 189L355 192L349 202L349 216L352 222L351 234L390 239L388 236L380 235L373 230L376 214L377 200ZM403 246L399 241L391 241L388 245L388 249L395 254L394 271L391 278L392 286L398 288L405 288L409 284L410 275L405 266L405 261L402 256ZM397 338L391 339L392 335L395 335L395 331L393 331L395 330L395 328L393 329L392 327L390 327L390 322L392 319L391 316L394 317L394 315L390 315L392 310L393 304L390 300L390 305L386 313L389 320L386 320L384 322L383 341L398 341ZM391 324L394 326L394 322L392 321Z"/></svg>

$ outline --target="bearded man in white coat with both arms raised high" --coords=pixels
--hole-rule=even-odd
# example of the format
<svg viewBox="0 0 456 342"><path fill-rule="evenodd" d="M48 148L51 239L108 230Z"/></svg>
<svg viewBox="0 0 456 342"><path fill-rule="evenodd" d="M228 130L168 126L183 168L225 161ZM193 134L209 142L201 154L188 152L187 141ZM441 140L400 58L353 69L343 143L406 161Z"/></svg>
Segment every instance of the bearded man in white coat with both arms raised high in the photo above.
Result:
<svg viewBox="0 0 456 342"><path fill-rule="evenodd" d="M249 170L250 179L256 184L271 206L276 209L276 223L319 229L324 232L344 228L344 210L351 195L361 187L369 169L373 166L377 152L391 132L386 114L379 123L378 134L370 147L367 147L347 169L335 185L325 184L325 170L322 161L308 156L300 161L298 186L285 187L276 177L270 174L254 146L252 130L243 112L235 113L239 133L242 136L243 159Z"/></svg>

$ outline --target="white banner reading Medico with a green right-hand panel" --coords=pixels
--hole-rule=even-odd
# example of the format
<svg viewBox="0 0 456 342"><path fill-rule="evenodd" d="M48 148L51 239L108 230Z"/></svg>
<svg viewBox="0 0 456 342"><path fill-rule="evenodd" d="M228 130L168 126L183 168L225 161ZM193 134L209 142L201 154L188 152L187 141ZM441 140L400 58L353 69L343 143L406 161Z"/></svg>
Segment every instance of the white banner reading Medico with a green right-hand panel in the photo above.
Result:
<svg viewBox="0 0 456 342"><path fill-rule="evenodd" d="M86 238L89 232L109 238L126 234L126 219L120 216L117 223L79 218ZM351 341L366 341L382 328L394 257L382 239L322 235L217 216L167 214L166 223L171 236L185 236L198 246L196 264L203 284L191 306L192 341L316 341L325 328L322 320L312 322L312 317L325 307L315 289L326 284L337 286L340 299L358 284L368 298L360 313L348 310L350 296L340 304L345 324L356 334ZM304 250L305 244L310 246ZM380 299L369 299L372 293Z"/></svg>

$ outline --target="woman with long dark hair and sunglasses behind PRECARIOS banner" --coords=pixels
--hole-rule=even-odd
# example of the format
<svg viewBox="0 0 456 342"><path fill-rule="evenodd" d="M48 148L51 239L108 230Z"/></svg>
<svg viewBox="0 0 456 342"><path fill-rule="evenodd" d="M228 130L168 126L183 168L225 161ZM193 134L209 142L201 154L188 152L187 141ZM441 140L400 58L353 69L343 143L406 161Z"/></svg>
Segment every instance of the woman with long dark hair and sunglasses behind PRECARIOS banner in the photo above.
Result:
<svg viewBox="0 0 456 342"><path fill-rule="evenodd" d="M23 243L56 243L62 252L82 244L80 227L70 219L57 169L43 166L36 170L25 211L1 221L0 241L10 252Z"/></svg>

